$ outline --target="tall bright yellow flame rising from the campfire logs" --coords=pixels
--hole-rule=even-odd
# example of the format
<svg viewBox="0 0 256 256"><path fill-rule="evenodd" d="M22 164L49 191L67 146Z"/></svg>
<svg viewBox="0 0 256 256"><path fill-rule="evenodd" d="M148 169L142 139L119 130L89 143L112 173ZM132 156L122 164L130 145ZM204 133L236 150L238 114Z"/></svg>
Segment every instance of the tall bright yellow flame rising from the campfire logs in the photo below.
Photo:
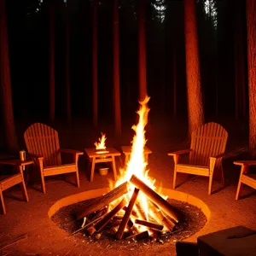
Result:
<svg viewBox="0 0 256 256"><path fill-rule="evenodd" d="M149 188L156 189L154 187L155 180L153 178L148 177L148 162L145 160L144 157L144 147L147 143L147 139L145 138L145 126L148 124L148 101L150 97L146 96L145 99L140 103L140 108L137 111L139 116L137 125L133 125L131 128L135 131L135 135L132 140L131 146L131 158L127 162L125 169L120 169L120 177L118 181L114 184L114 187L119 186L119 184L124 183L125 181L129 181L131 176L134 174L139 179L146 183ZM129 192L125 195L127 201L130 201L131 195L133 193L135 186L129 183ZM160 193L160 191L157 191ZM164 196L163 196L164 197ZM114 204L118 203L115 201ZM147 221L156 220L158 221L157 214L155 213L155 207L152 205L148 198L141 192L137 196L137 202L133 208L139 218L145 219ZM143 212L142 212L143 209ZM132 216L131 216L132 218ZM140 230L147 230L146 227L140 226Z"/></svg>

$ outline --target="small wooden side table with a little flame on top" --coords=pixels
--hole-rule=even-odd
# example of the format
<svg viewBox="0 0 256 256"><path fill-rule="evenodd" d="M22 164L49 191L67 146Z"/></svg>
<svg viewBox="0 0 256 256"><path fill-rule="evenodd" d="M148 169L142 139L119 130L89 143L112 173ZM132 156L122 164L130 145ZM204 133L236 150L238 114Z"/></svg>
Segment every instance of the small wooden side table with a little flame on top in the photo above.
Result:
<svg viewBox="0 0 256 256"><path fill-rule="evenodd" d="M116 174L116 166L115 166L115 156L121 155L119 151L117 151L115 148L106 148L106 152L99 154L96 152L95 148L84 148L85 153L88 155L90 163L91 163L91 169L90 169L90 182L93 181L94 177L94 171L95 171L95 165L97 163L112 163L113 167L113 179L116 180L117 174Z"/></svg>

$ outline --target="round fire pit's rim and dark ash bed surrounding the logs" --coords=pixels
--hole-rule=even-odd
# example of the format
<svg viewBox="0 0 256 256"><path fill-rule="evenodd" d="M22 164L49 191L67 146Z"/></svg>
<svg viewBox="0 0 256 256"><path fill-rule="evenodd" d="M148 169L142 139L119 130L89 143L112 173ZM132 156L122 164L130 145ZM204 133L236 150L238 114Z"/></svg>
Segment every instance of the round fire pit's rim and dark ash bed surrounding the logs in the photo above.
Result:
<svg viewBox="0 0 256 256"><path fill-rule="evenodd" d="M141 232L143 235L133 236L130 234L130 237L128 236L129 232L127 232L126 236L121 240L116 238L118 230L114 226L112 228L111 225L106 225L100 236L98 235L99 233L94 233L90 236L87 228L76 232L83 223L83 218L77 220L76 213L81 208L89 206L92 202L101 198L102 194L108 195L111 191L113 190L107 188L90 190L56 201L49 209L49 218L61 229L73 234L74 239L79 239L81 245L88 243L96 243L98 245L100 242L102 247L120 246L125 247L125 249L134 249L134 246L142 249L141 247L152 246L153 244L156 247L164 247L166 244L174 247L176 241L186 239L201 230L207 224L207 219L210 218L210 211L207 205L200 199L177 190L162 189L163 193L168 196L167 201L180 213L180 221L175 225L172 232L168 230L165 232L158 231L151 233L150 236L145 236L145 232ZM121 211L124 212L123 210ZM90 220L96 217L99 212L91 213ZM104 214L103 212L102 214ZM116 224L119 223L119 218L113 218L114 222Z"/></svg>

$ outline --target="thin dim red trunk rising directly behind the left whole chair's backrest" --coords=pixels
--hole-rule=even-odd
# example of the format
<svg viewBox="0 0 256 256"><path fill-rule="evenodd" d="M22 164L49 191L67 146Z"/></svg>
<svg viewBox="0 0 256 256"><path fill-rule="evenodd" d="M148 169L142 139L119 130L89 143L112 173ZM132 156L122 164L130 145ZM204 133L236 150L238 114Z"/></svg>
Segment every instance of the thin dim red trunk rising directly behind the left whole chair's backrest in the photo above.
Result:
<svg viewBox="0 0 256 256"><path fill-rule="evenodd" d="M49 119L55 120L55 13L49 6Z"/></svg>

